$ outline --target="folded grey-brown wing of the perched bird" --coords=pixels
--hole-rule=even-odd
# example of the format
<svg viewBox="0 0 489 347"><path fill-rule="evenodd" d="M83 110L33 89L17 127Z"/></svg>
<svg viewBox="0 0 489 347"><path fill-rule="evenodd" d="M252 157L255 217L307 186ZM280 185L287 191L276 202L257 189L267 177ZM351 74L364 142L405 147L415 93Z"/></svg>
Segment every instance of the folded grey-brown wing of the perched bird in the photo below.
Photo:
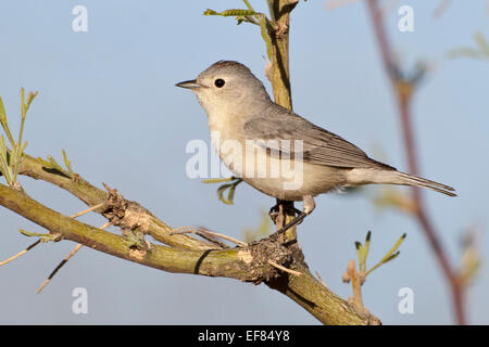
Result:
<svg viewBox="0 0 489 347"><path fill-rule="evenodd" d="M341 137L280 108L274 110L267 117L255 117L246 123L247 139L259 140L258 145L275 155L293 157L301 150L304 163L341 168L394 169L369 158L361 149ZM290 144L284 145L283 140L289 140L286 143ZM302 140L302 149L294 146L294 140Z"/></svg>

